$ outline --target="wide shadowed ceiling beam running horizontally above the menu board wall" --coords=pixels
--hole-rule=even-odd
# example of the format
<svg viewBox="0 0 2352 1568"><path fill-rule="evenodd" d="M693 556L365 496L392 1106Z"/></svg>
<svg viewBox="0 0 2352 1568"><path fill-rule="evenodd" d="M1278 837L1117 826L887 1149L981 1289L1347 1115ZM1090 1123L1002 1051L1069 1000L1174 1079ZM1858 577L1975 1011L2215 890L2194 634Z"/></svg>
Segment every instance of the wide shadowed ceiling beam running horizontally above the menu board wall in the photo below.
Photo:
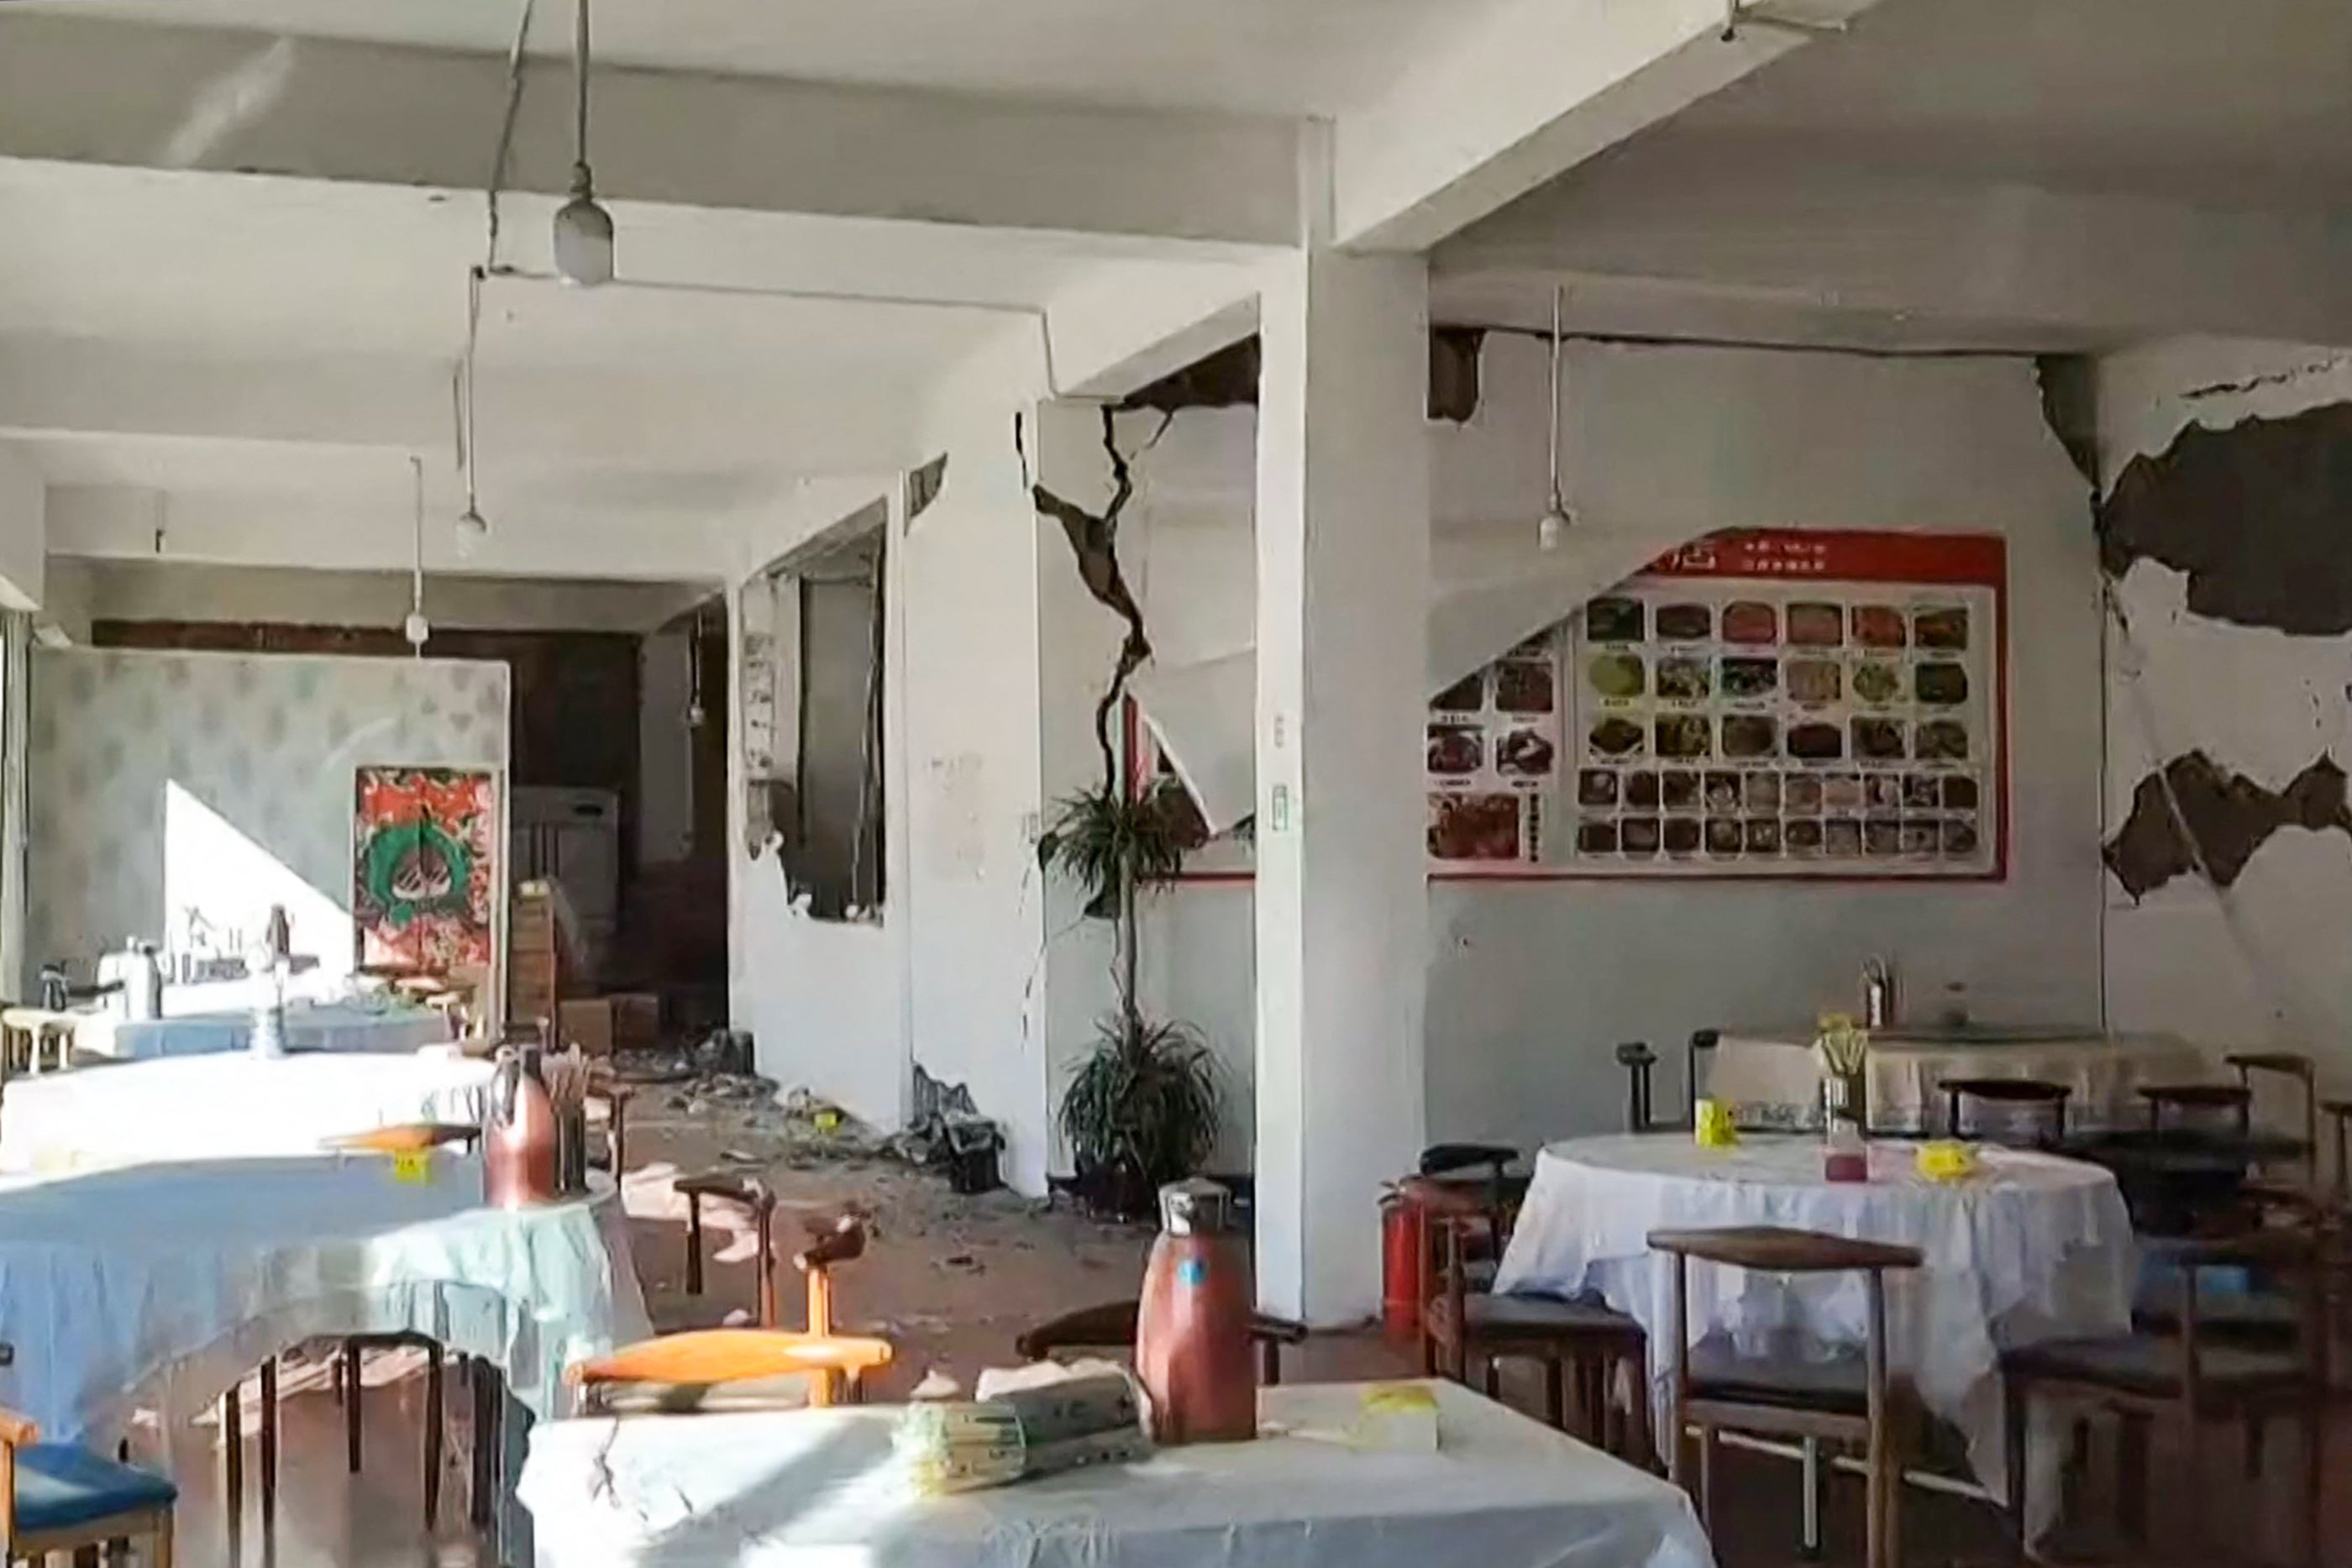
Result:
<svg viewBox="0 0 2352 1568"><path fill-rule="evenodd" d="M1931 181L1691 136L1602 160L1439 247L1444 282L1590 275L1818 310L2042 324L2063 341L2352 343L2352 226Z"/></svg>

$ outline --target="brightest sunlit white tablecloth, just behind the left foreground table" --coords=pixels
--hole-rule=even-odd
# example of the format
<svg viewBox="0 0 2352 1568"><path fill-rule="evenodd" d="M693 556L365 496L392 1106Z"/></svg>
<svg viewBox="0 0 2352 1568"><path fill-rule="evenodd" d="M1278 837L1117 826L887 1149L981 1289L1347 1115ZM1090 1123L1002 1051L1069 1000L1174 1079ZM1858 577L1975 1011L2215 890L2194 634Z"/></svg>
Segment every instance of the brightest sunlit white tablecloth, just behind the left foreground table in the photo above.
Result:
<svg viewBox="0 0 2352 1568"><path fill-rule="evenodd" d="M181 1056L16 1079L0 1095L0 1171L318 1154L402 1121L480 1124L492 1065L416 1056Z"/></svg>

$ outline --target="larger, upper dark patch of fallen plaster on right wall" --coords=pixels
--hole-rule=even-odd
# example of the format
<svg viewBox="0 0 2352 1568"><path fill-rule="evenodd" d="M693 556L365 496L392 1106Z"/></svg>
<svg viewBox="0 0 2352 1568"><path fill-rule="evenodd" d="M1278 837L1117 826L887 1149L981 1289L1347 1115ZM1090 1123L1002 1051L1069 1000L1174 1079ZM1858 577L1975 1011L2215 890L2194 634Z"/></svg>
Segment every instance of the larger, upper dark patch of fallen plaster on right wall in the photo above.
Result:
<svg viewBox="0 0 2352 1568"><path fill-rule="evenodd" d="M2352 632L2352 404L2225 430L2187 425L2136 456L2098 508L2100 569L2187 576L2187 609L2296 637Z"/></svg>

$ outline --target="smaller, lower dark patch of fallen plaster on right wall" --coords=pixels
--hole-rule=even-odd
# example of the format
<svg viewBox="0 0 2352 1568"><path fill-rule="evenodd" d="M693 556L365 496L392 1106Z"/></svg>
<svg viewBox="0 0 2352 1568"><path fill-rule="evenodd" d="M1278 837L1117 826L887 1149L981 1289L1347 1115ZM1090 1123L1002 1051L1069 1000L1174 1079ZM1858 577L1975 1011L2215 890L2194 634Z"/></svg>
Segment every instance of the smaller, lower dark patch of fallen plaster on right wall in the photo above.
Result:
<svg viewBox="0 0 2352 1568"><path fill-rule="evenodd" d="M2227 889L2281 827L2352 837L2345 771L2333 757L2321 755L2272 792L2244 773L2223 773L2204 752L2187 752L2138 783L2131 816L2103 858L2133 900L2190 872Z"/></svg>

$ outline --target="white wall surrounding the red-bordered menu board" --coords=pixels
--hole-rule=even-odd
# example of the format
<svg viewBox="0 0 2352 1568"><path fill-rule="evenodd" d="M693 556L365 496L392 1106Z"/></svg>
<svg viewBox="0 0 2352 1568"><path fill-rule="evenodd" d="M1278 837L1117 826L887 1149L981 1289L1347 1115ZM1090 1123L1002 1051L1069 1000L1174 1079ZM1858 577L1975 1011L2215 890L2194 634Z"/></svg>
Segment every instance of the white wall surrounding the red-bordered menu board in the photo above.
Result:
<svg viewBox="0 0 2352 1568"><path fill-rule="evenodd" d="M1543 346L1491 339L1484 386L1470 425L1432 430L1442 562L1531 552L1543 508ZM2042 421L2032 364L1581 350L1566 423L1571 501L1597 522L2009 536L2011 875L1933 889L1437 882L1430 1135L1534 1145L1613 1126L1618 1041L1649 1039L1679 1063L1696 1027L1811 1018L1851 1001L1877 950L1900 959L1915 997L1964 983L1978 1018L2098 1020L2096 552L2086 487ZM1129 555L1145 562L1138 592L1162 649L1218 649L1237 623L1249 428L1249 411L1185 411L1138 465L1136 515L1150 522ZM1049 623L1049 649L1061 637ZM1249 922L1247 886L1183 886L1145 919L1148 999L1207 1027L1242 1072ZM1679 1095L1677 1070L1658 1093Z"/></svg>

